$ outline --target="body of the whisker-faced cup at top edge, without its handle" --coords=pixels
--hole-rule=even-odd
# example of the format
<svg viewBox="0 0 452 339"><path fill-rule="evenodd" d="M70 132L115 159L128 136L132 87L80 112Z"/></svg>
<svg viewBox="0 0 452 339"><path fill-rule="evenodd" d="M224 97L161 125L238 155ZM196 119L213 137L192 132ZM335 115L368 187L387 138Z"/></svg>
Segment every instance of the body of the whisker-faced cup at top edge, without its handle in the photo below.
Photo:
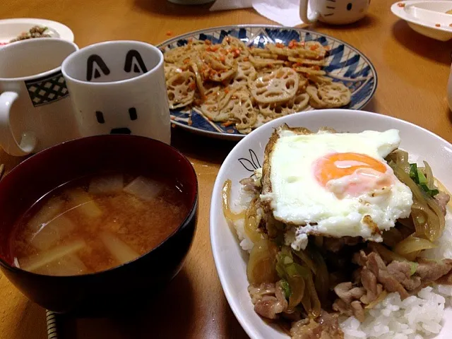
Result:
<svg viewBox="0 0 452 339"><path fill-rule="evenodd" d="M370 0L324 0L317 4L319 20L325 23L352 23L366 15Z"/></svg>

